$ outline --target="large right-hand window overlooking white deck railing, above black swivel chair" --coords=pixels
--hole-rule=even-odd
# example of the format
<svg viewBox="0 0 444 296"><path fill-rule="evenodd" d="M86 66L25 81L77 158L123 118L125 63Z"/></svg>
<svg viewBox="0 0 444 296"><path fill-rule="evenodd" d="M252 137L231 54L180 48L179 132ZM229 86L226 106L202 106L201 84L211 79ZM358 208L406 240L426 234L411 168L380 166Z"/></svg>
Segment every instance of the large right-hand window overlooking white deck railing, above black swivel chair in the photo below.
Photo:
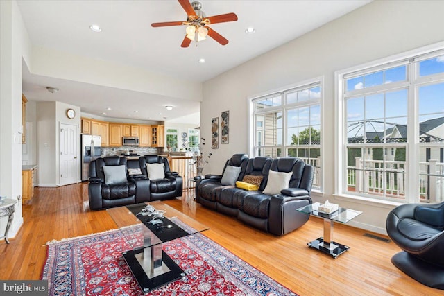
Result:
<svg viewBox="0 0 444 296"><path fill-rule="evenodd" d="M444 51L339 73L339 193L444 200Z"/></svg>

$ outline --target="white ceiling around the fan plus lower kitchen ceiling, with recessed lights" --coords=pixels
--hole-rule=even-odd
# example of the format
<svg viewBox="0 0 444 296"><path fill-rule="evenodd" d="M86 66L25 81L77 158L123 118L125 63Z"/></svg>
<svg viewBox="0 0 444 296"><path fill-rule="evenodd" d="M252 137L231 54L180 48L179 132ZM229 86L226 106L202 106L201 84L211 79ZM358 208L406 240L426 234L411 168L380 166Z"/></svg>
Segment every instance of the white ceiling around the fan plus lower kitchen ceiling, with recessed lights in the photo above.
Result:
<svg viewBox="0 0 444 296"><path fill-rule="evenodd" d="M33 46L194 82L214 78L368 2L201 0L207 16L234 12L239 20L211 25L230 41L226 46L208 37L183 49L185 26L151 27L153 22L185 21L187 15L178 1L17 1ZM99 24L103 31L92 32L91 24ZM255 27L255 34L245 33L248 26ZM207 62L198 63L200 58ZM23 75L28 99L61 101L89 114L101 116L111 107L106 116L163 121L199 112L196 101L38 76L27 69ZM60 92L46 92L47 85ZM167 112L164 105L175 108ZM194 117L198 123L198 116Z"/></svg>

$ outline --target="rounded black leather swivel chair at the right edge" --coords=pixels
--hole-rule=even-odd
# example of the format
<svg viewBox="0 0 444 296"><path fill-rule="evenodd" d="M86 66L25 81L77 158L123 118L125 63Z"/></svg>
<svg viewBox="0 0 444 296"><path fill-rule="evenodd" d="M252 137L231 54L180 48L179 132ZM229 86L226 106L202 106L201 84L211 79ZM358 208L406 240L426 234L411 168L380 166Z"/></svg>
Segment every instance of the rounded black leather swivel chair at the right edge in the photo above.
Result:
<svg viewBox="0 0 444 296"><path fill-rule="evenodd" d="M392 257L393 265L426 286L444 290L444 202L395 207L386 229L402 249Z"/></svg>

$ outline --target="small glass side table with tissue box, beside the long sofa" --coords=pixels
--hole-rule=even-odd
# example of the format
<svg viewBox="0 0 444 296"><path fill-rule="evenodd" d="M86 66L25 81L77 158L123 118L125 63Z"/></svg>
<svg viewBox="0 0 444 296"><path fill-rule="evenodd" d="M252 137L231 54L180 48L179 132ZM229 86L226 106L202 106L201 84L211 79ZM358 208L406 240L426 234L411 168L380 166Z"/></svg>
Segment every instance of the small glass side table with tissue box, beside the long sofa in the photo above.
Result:
<svg viewBox="0 0 444 296"><path fill-rule="evenodd" d="M302 213L310 214L312 216L321 217L324 219L324 236L307 243L307 245L316 250L324 252L325 254L329 254L330 256L333 256L334 259L336 259L340 254L350 249L350 247L332 241L333 222L339 222L344 224L348 223L348 221L362 214L362 212L355 211L353 209L345 209L343 207L339 207L337 211L334 211L331 214L325 214L318 211L319 205L320 205L319 202L315 202L314 204L309 204L305 207L300 207L299 209L296 209L296 211L301 211Z"/></svg>

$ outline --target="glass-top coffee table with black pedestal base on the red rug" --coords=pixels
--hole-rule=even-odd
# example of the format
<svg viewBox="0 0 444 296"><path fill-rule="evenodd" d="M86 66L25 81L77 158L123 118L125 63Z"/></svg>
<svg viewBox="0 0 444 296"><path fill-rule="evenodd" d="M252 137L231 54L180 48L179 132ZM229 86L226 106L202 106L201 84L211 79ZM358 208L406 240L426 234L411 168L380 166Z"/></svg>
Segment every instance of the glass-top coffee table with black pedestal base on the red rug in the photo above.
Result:
<svg viewBox="0 0 444 296"><path fill-rule="evenodd" d="M142 211L148 204L163 212L163 215L148 216ZM185 277L185 272L163 252L162 243L209 229L160 201L131 204L107 211L132 249L123 252L123 258L145 294L153 288Z"/></svg>

